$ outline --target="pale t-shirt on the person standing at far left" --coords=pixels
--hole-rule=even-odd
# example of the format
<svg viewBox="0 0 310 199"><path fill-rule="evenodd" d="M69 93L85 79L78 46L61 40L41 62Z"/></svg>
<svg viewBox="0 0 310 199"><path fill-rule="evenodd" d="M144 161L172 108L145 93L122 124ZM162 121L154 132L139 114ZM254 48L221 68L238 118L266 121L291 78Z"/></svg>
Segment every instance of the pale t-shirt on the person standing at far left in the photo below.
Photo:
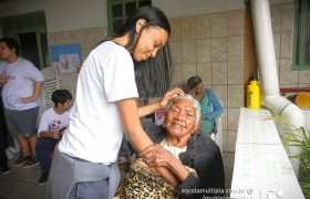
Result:
<svg viewBox="0 0 310 199"><path fill-rule="evenodd" d="M39 106L39 102L21 103L22 97L33 94L34 82L43 82L43 74L28 60L19 57L13 63L1 62L1 72L10 75L9 81L2 88L3 105L8 109L22 111Z"/></svg>

